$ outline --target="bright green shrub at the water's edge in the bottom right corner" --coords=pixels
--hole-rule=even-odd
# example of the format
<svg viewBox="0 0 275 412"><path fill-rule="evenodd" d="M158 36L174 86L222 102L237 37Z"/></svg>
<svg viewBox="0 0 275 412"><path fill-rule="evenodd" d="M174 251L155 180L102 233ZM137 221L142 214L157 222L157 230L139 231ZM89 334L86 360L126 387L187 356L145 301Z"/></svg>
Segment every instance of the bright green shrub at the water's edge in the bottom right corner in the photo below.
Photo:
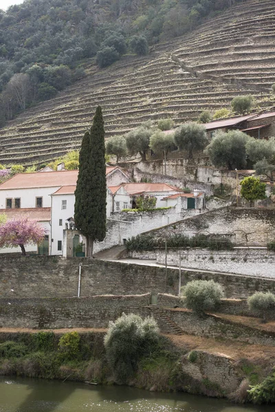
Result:
<svg viewBox="0 0 275 412"><path fill-rule="evenodd" d="M275 402L275 373L267 376L259 385L255 385L248 391L249 399L254 404Z"/></svg>

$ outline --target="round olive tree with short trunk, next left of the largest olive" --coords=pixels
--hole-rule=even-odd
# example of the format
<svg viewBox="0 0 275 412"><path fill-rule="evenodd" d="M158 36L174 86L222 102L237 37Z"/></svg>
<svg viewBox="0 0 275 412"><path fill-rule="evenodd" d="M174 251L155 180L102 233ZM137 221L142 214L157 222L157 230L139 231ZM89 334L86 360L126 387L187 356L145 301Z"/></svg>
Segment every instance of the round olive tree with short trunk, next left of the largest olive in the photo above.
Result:
<svg viewBox="0 0 275 412"><path fill-rule="evenodd" d="M179 150L187 150L192 159L195 150L203 150L208 144L206 128L195 122L186 123L175 130L175 144Z"/></svg>

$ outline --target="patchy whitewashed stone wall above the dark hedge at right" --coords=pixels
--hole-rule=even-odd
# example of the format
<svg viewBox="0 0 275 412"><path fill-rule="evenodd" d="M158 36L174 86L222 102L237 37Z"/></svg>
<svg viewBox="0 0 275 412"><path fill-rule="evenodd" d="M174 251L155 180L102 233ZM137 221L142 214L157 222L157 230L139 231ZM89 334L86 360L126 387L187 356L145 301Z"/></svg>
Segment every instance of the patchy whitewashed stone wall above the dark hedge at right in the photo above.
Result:
<svg viewBox="0 0 275 412"><path fill-rule="evenodd" d="M230 234L236 244L266 246L267 242L275 239L275 209L226 207L199 214L153 233L166 237L181 233L188 236L197 233Z"/></svg>

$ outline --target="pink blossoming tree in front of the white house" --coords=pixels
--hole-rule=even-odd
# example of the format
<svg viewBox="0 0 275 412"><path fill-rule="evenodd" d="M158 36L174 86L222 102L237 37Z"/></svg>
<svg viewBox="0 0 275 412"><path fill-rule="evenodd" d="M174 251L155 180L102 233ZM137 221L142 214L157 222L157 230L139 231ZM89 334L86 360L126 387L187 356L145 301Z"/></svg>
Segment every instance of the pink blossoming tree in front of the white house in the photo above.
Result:
<svg viewBox="0 0 275 412"><path fill-rule="evenodd" d="M0 248L19 246L25 256L25 245L39 244L47 233L45 227L35 220L21 216L0 225Z"/></svg>

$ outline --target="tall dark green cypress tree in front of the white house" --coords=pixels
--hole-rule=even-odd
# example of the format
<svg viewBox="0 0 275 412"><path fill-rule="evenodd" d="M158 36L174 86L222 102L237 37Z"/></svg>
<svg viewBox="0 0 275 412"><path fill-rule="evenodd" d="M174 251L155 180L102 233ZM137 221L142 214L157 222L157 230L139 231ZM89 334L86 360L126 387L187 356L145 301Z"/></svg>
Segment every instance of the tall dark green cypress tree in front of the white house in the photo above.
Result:
<svg viewBox="0 0 275 412"><path fill-rule="evenodd" d="M74 220L86 238L89 258L93 256L94 241L102 242L106 236L106 191L104 122L98 106L91 131L83 136L74 205Z"/></svg>

